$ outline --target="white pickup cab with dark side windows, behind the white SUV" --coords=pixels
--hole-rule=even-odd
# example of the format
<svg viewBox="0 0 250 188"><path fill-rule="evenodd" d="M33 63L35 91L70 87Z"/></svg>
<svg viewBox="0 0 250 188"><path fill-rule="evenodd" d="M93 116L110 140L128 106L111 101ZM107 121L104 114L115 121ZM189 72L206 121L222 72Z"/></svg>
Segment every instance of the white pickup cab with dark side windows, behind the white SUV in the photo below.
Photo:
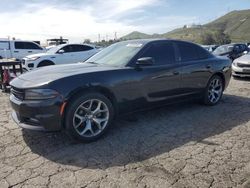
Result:
<svg viewBox="0 0 250 188"><path fill-rule="evenodd" d="M13 49L13 57L17 59L22 59L27 55L37 54L44 51L39 45L33 42L23 42L23 41L15 41Z"/></svg>

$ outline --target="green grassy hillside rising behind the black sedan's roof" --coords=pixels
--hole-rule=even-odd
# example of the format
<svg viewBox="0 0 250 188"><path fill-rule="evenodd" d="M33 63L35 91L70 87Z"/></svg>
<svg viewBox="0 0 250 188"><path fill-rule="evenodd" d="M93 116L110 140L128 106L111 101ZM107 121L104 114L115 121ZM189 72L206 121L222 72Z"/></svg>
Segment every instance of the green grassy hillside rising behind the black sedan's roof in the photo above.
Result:
<svg viewBox="0 0 250 188"><path fill-rule="evenodd" d="M132 32L121 39L142 39L142 38L175 38L200 42L204 33L215 33L223 31L228 34L233 42L250 42L250 9L232 11L210 23L178 28L163 34L148 35L140 32Z"/></svg>

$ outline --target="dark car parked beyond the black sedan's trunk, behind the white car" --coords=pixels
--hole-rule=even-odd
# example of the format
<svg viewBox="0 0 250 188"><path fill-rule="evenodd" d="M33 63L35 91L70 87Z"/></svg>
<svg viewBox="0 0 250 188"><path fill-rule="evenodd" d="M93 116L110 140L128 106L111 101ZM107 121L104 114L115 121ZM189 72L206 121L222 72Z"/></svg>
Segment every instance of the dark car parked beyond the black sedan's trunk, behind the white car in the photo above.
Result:
<svg viewBox="0 0 250 188"><path fill-rule="evenodd" d="M231 60L234 60L249 52L249 48L246 44L226 44L219 46L213 52L214 55L226 56Z"/></svg>

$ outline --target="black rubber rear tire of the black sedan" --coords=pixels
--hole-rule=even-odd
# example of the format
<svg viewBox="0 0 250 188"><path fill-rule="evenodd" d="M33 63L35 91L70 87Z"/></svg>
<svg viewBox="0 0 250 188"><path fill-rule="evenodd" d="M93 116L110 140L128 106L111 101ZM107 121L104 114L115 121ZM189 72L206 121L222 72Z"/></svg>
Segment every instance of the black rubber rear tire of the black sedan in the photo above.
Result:
<svg viewBox="0 0 250 188"><path fill-rule="evenodd" d="M216 80L219 82L218 84L220 86L218 86L218 89L214 89L216 92L218 92L219 94L213 93L212 90L212 86L214 82L216 82ZM220 87L220 89L219 89ZM219 92L220 91L220 92ZM221 97L223 95L223 91L224 91L224 83L223 83L223 79L219 76L219 75L214 75L212 76L212 78L210 78L210 80L207 83L207 87L205 89L205 93L204 93L204 97L203 97L203 104L208 105L208 106L214 106L216 104L218 104L221 100ZM213 94L211 94L213 93ZM212 100L211 97L214 96L216 98L216 100Z"/></svg>

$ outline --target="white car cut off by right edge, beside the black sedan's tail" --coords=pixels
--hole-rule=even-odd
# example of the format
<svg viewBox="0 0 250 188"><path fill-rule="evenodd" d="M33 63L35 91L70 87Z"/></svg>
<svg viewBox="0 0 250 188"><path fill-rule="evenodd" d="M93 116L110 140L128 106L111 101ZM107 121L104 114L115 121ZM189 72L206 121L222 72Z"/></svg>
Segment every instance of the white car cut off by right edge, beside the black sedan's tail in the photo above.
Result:
<svg viewBox="0 0 250 188"><path fill-rule="evenodd" d="M232 70L234 77L250 77L250 54L235 59Z"/></svg>

